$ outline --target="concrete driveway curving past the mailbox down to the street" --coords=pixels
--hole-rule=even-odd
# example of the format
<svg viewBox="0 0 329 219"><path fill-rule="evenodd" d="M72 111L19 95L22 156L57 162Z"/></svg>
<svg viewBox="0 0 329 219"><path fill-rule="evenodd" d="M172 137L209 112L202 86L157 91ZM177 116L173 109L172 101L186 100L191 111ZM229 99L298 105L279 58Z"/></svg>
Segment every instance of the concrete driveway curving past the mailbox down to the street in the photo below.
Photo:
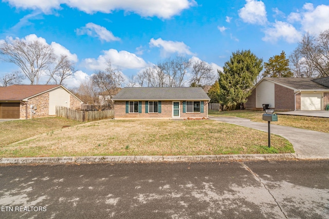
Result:
<svg viewBox="0 0 329 219"><path fill-rule="evenodd" d="M251 122L247 118L209 116L211 120L245 126L267 132L267 123ZM271 124L271 133L293 144L297 158L329 158L329 133Z"/></svg>

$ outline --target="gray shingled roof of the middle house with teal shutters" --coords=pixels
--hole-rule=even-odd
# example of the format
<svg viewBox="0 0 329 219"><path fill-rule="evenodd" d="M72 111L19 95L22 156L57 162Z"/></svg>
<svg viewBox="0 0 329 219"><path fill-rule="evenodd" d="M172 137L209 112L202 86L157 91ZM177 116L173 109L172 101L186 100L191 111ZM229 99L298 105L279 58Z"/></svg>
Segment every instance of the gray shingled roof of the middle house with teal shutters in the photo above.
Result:
<svg viewBox="0 0 329 219"><path fill-rule="evenodd" d="M180 88L123 88L115 97L114 101L125 100L210 100L205 91L200 87Z"/></svg>

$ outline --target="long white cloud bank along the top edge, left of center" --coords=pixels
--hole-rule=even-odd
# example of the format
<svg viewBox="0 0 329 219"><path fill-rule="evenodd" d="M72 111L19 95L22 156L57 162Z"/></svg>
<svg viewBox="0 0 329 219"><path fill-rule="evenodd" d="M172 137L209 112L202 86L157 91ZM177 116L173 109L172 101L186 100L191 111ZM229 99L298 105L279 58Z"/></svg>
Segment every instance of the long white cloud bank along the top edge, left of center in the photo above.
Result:
<svg viewBox="0 0 329 219"><path fill-rule="evenodd" d="M8 2L11 6L17 8L41 9L47 13L51 9L60 9L61 4L65 4L88 14L96 12L111 13L114 10L124 10L145 17L158 16L161 18L170 18L179 14L182 10L196 5L194 0L3 0L3 2Z"/></svg>

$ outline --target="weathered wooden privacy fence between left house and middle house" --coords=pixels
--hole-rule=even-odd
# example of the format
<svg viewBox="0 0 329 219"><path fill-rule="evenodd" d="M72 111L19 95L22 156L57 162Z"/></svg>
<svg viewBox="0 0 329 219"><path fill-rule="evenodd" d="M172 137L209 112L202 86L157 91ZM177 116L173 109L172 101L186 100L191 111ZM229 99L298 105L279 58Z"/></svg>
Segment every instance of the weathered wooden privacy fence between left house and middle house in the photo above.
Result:
<svg viewBox="0 0 329 219"><path fill-rule="evenodd" d="M67 107L56 106L56 116L68 118L79 122L90 122L113 118L114 110L104 111L79 111Z"/></svg>

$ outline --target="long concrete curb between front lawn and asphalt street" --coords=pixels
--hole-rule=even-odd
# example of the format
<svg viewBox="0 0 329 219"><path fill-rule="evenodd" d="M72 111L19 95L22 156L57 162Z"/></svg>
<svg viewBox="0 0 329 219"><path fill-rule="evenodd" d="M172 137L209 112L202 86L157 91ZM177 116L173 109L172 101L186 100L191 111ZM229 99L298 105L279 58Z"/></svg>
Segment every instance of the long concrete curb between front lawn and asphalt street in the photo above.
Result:
<svg viewBox="0 0 329 219"><path fill-rule="evenodd" d="M63 156L63 157L4 157L0 164L92 164L92 163L173 163L173 162L221 162L265 160L309 160L295 153L285 154L232 154L195 156ZM318 159L318 158L311 158Z"/></svg>

